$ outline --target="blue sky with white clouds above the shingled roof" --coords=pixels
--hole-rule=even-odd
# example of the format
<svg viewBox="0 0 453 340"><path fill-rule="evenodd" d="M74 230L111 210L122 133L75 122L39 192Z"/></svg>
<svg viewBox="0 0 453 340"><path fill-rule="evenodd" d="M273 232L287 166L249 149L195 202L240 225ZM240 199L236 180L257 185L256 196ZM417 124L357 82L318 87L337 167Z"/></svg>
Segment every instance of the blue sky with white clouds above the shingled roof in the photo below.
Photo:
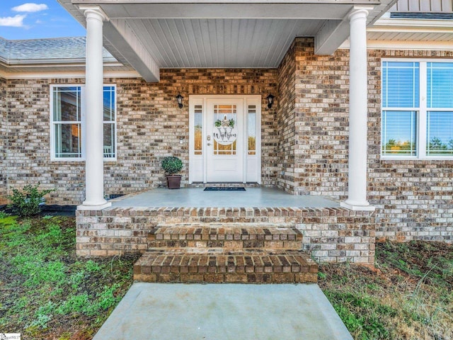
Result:
<svg viewBox="0 0 453 340"><path fill-rule="evenodd" d="M0 37L16 39L80 37L85 28L57 0L0 0Z"/></svg>

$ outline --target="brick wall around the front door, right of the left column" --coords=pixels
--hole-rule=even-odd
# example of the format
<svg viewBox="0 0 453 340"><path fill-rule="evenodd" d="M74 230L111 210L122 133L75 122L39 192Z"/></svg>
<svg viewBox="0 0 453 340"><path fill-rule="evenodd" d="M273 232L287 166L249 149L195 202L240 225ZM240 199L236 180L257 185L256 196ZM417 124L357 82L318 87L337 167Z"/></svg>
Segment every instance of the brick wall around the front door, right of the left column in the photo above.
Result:
<svg viewBox="0 0 453 340"><path fill-rule="evenodd" d="M183 185L188 181L189 113L191 94L260 94L262 96L262 183L274 186L277 176L275 111L265 97L277 93L275 69L163 69L158 84L141 79L117 79L117 163L106 164L107 192L131 193L164 184L161 158L183 160ZM184 97L179 109L175 96ZM276 104L277 106L277 104ZM183 144L180 144L180 139Z"/></svg>

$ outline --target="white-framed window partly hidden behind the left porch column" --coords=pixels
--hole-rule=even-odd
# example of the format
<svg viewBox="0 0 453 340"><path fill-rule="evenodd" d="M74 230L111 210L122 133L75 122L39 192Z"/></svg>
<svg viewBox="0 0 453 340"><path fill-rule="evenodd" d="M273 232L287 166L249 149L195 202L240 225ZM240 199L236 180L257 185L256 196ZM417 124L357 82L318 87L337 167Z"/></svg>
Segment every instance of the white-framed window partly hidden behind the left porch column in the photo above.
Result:
<svg viewBox="0 0 453 340"><path fill-rule="evenodd" d="M116 157L115 86L104 86L104 158ZM51 88L52 159L84 159L84 86Z"/></svg>

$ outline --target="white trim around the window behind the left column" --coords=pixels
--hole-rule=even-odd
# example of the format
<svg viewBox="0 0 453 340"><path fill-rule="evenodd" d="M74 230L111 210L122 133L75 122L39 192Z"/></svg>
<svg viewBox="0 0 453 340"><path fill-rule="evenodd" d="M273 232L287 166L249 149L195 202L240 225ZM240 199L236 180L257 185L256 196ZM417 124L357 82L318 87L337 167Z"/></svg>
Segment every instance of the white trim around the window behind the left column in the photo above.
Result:
<svg viewBox="0 0 453 340"><path fill-rule="evenodd" d="M115 91L115 157L103 157L104 162L116 162L117 160L117 87L116 84L103 84L110 86ZM56 87L80 87L81 96L81 157L55 157L55 130L54 130L54 89ZM110 120L108 122L110 123ZM50 85L50 160L52 162L85 162L86 156L86 102L85 102L85 84L51 84Z"/></svg>

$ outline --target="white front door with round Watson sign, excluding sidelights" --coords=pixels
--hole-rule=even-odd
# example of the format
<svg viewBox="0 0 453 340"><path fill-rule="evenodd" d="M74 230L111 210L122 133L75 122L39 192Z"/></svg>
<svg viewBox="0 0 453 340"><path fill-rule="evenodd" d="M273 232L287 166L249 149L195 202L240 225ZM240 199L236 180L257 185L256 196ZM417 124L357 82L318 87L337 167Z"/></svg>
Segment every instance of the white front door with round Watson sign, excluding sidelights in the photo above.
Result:
<svg viewBox="0 0 453 340"><path fill-rule="evenodd" d="M243 101L208 99L206 181L243 181Z"/></svg>

